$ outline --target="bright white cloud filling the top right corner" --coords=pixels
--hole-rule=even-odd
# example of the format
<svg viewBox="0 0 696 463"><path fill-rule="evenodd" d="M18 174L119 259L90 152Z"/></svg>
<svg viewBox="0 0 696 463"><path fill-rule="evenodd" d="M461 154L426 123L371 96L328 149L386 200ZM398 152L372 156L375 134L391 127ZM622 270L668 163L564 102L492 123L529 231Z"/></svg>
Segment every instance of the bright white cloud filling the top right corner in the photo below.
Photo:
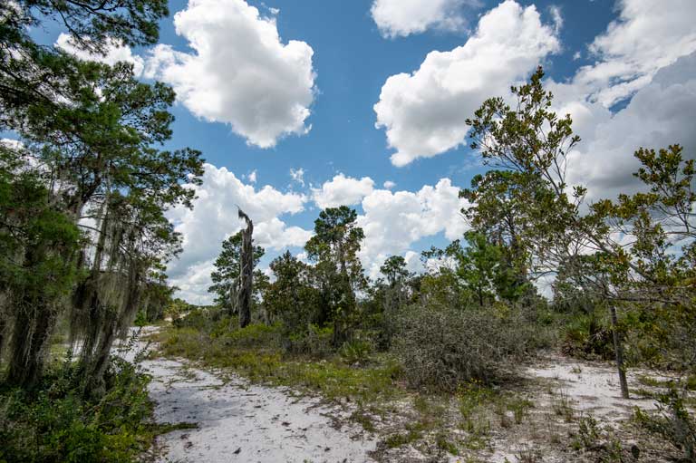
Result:
<svg viewBox="0 0 696 463"><path fill-rule="evenodd" d="M618 6L619 17L588 47L596 63L581 67L570 82L576 95L607 107L696 51L696 2L622 0Z"/></svg>

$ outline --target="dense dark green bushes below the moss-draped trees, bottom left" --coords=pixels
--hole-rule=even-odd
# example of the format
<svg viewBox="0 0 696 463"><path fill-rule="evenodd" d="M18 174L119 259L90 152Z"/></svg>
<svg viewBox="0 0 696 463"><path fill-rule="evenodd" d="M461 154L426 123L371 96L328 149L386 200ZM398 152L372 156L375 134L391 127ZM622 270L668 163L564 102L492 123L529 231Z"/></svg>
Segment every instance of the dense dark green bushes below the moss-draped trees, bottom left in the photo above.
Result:
<svg viewBox="0 0 696 463"><path fill-rule="evenodd" d="M0 391L0 461L132 461L150 446L150 379L114 359L106 394L84 400L75 368L49 372L34 391Z"/></svg>

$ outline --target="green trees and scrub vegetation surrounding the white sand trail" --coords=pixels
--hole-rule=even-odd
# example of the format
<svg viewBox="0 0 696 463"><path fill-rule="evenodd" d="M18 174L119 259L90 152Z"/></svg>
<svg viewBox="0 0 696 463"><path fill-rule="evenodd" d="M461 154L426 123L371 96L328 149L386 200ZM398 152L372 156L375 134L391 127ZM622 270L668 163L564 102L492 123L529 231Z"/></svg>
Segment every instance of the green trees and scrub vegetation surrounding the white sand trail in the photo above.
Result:
<svg viewBox="0 0 696 463"><path fill-rule="evenodd" d="M0 130L20 139L0 143L0 461L135 461L194 426L155 424L141 355L114 355L150 323L149 355L320 398L375 436L377 460L694 461L696 170L681 146L635 147L641 192L589 201L566 183L581 140L538 68L466 122L488 171L451 211L469 231L423 252L425 272L389 256L368 278L358 214L339 206L305 260L285 252L266 275L239 210L215 304L192 305L165 274L182 245L165 214L191 207L184 185L203 174L198 150L164 149L174 92L27 32L57 22L105 53L156 43L167 14L163 0L0 5ZM656 405L594 415L530 374L548 359L578 382L612 368L613 411Z"/></svg>

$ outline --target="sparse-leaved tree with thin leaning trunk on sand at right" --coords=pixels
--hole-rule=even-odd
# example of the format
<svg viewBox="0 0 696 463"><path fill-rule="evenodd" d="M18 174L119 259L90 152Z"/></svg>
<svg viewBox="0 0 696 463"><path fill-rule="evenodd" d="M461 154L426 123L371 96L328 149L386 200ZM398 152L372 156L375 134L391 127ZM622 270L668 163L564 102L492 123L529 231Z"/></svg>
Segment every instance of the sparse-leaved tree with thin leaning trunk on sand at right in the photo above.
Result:
<svg viewBox="0 0 696 463"><path fill-rule="evenodd" d="M521 199L516 210L524 217L520 244L536 272L555 273L559 265L566 265L565 272L586 269L573 265L583 262L577 256L593 256L596 271L585 283L595 285L609 302L622 395L627 397L617 307L693 300L690 287L677 284L690 275L693 162L681 166L676 146L659 154L639 150L636 157L643 168L636 175L650 192L622 195L617 202L602 200L582 214L586 189L575 186L569 196L565 183L566 155L580 139L573 134L570 116L559 119L550 110L553 96L543 89L543 76L539 68L529 83L512 88L515 109L501 98L485 101L467 121L471 147L488 164L511 172L506 177L514 182L511 191ZM616 236L633 236L634 241L625 246ZM681 248L683 257L672 258L670 248Z"/></svg>

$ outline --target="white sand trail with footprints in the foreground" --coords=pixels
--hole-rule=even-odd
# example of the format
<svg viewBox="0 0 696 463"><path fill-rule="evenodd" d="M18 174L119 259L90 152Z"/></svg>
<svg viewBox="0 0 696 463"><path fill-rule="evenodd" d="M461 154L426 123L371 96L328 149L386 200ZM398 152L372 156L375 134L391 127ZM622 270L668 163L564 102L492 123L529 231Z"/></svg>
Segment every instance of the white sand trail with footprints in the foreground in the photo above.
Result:
<svg viewBox="0 0 696 463"><path fill-rule="evenodd" d="M369 462L375 440L358 426L343 425L341 411L290 391L225 381L188 362L142 362L152 375L150 397L161 423L196 422L158 438L159 462Z"/></svg>

